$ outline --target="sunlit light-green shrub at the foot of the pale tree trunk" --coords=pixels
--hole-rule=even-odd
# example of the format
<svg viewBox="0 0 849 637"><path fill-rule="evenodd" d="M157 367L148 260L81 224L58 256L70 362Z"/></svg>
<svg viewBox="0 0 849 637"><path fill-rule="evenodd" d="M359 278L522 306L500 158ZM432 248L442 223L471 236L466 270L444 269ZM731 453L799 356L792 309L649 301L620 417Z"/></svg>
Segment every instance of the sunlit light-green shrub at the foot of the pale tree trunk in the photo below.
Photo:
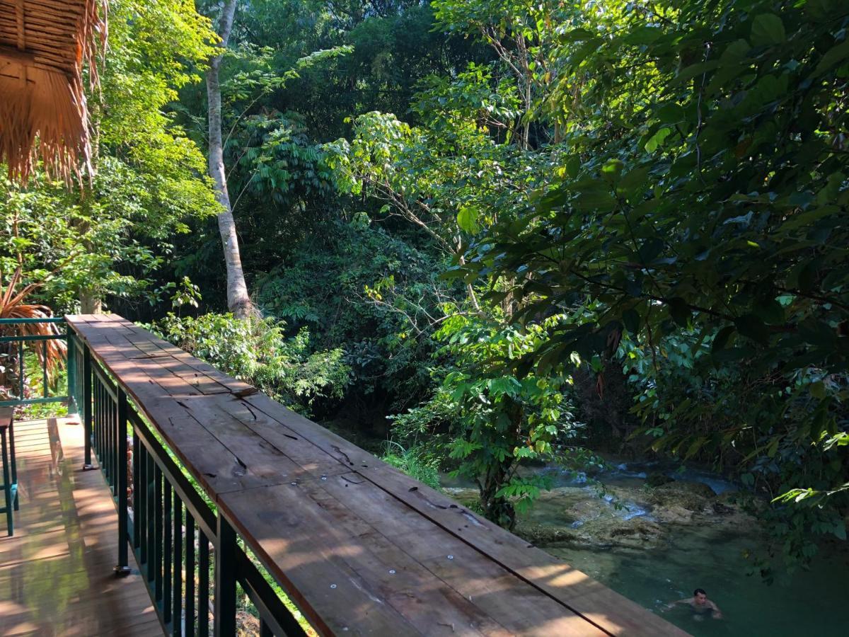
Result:
<svg viewBox="0 0 849 637"><path fill-rule="evenodd" d="M350 381L341 349L310 352L307 330L287 338L284 323L272 317L243 321L233 314L168 314L154 329L177 347L303 414L310 413L317 398L342 397Z"/></svg>

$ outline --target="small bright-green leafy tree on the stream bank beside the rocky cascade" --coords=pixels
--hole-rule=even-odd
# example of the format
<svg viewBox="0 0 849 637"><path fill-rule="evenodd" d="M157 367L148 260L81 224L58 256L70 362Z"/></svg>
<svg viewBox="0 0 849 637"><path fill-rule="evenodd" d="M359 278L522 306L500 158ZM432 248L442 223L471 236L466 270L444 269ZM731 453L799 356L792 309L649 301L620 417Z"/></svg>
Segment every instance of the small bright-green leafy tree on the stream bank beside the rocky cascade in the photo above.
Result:
<svg viewBox="0 0 849 637"><path fill-rule="evenodd" d="M518 473L520 464L577 459L569 448L578 426L565 394L568 375L520 377L504 364L537 347L544 329L561 317L521 329L457 312L450 304L444 309L447 318L436 336L447 343L443 353L453 365L442 370L430 401L391 417L393 431L447 452L454 474L478 485L484 515L513 528L516 512L550 487L546 476Z"/></svg>

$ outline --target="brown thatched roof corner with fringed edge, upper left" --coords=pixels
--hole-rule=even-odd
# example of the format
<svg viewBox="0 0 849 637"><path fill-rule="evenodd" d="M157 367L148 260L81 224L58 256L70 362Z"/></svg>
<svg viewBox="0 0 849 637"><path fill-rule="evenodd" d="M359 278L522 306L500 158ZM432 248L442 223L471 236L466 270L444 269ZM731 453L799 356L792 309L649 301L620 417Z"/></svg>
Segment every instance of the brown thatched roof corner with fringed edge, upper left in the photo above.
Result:
<svg viewBox="0 0 849 637"><path fill-rule="evenodd" d="M0 0L0 162L11 178L25 181L35 155L65 180L89 163L82 69L97 82L101 3Z"/></svg>

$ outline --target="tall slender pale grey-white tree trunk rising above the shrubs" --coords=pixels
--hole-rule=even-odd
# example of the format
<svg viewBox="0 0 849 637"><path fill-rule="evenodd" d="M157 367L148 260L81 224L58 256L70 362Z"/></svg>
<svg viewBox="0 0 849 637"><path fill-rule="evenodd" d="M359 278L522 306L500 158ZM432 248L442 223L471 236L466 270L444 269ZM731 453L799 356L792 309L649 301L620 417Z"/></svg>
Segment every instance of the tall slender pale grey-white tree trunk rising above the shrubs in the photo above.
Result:
<svg viewBox="0 0 849 637"><path fill-rule="evenodd" d="M218 23L218 35L221 42L218 46L227 48L230 31L233 29L233 16L236 13L236 0L225 0ZM227 306L237 318L248 318L253 312L253 304L248 296L248 286L245 284L245 273L242 271L242 259L239 256L239 237L236 234L236 223L233 220L233 208L230 206L230 195L227 190L227 172L224 170L224 145L221 132L221 84L218 72L221 67L222 54L210 60L210 68L206 72L206 97L209 100L209 133L210 133L210 176L215 181L216 200L221 205L218 213L218 231L221 233L224 248L224 262L227 265Z"/></svg>

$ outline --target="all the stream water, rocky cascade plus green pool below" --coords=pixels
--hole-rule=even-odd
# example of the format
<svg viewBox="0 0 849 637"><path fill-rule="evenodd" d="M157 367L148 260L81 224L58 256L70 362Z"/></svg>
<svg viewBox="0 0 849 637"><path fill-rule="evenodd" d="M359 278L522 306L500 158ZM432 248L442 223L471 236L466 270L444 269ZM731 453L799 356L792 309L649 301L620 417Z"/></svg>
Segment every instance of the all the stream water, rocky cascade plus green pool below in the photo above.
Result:
<svg viewBox="0 0 849 637"><path fill-rule="evenodd" d="M733 483L708 471L677 471L670 476L708 485L717 495L736 489ZM590 486L592 481L584 476L554 475L554 492L541 497L522 521L548 530L585 532L585 538L588 533L593 540L603 536L603 541L597 546L575 546L568 541L548 546L542 543L543 550L696 637L849 635L845 606L849 550L845 545L835 543L835 548L818 556L809 570L767 585L759 575L747 574L749 563L743 557L745 550L762 544L753 521L743 524L739 520L747 518L711 518L708 509L703 516L705 523L698 517L688 523L672 523L668 521L668 507L646 504L644 467L619 465L598 478L614 488L616 500L610 495L599 498ZM469 485L455 482L454 486ZM469 492L466 494L468 497ZM642 525L655 534L645 542L642 535L628 537L627 546L604 545L610 539L610 528L628 525ZM666 609L669 602L692 596L695 588L706 589L709 599L722 610L722 619L696 617L686 606Z"/></svg>

